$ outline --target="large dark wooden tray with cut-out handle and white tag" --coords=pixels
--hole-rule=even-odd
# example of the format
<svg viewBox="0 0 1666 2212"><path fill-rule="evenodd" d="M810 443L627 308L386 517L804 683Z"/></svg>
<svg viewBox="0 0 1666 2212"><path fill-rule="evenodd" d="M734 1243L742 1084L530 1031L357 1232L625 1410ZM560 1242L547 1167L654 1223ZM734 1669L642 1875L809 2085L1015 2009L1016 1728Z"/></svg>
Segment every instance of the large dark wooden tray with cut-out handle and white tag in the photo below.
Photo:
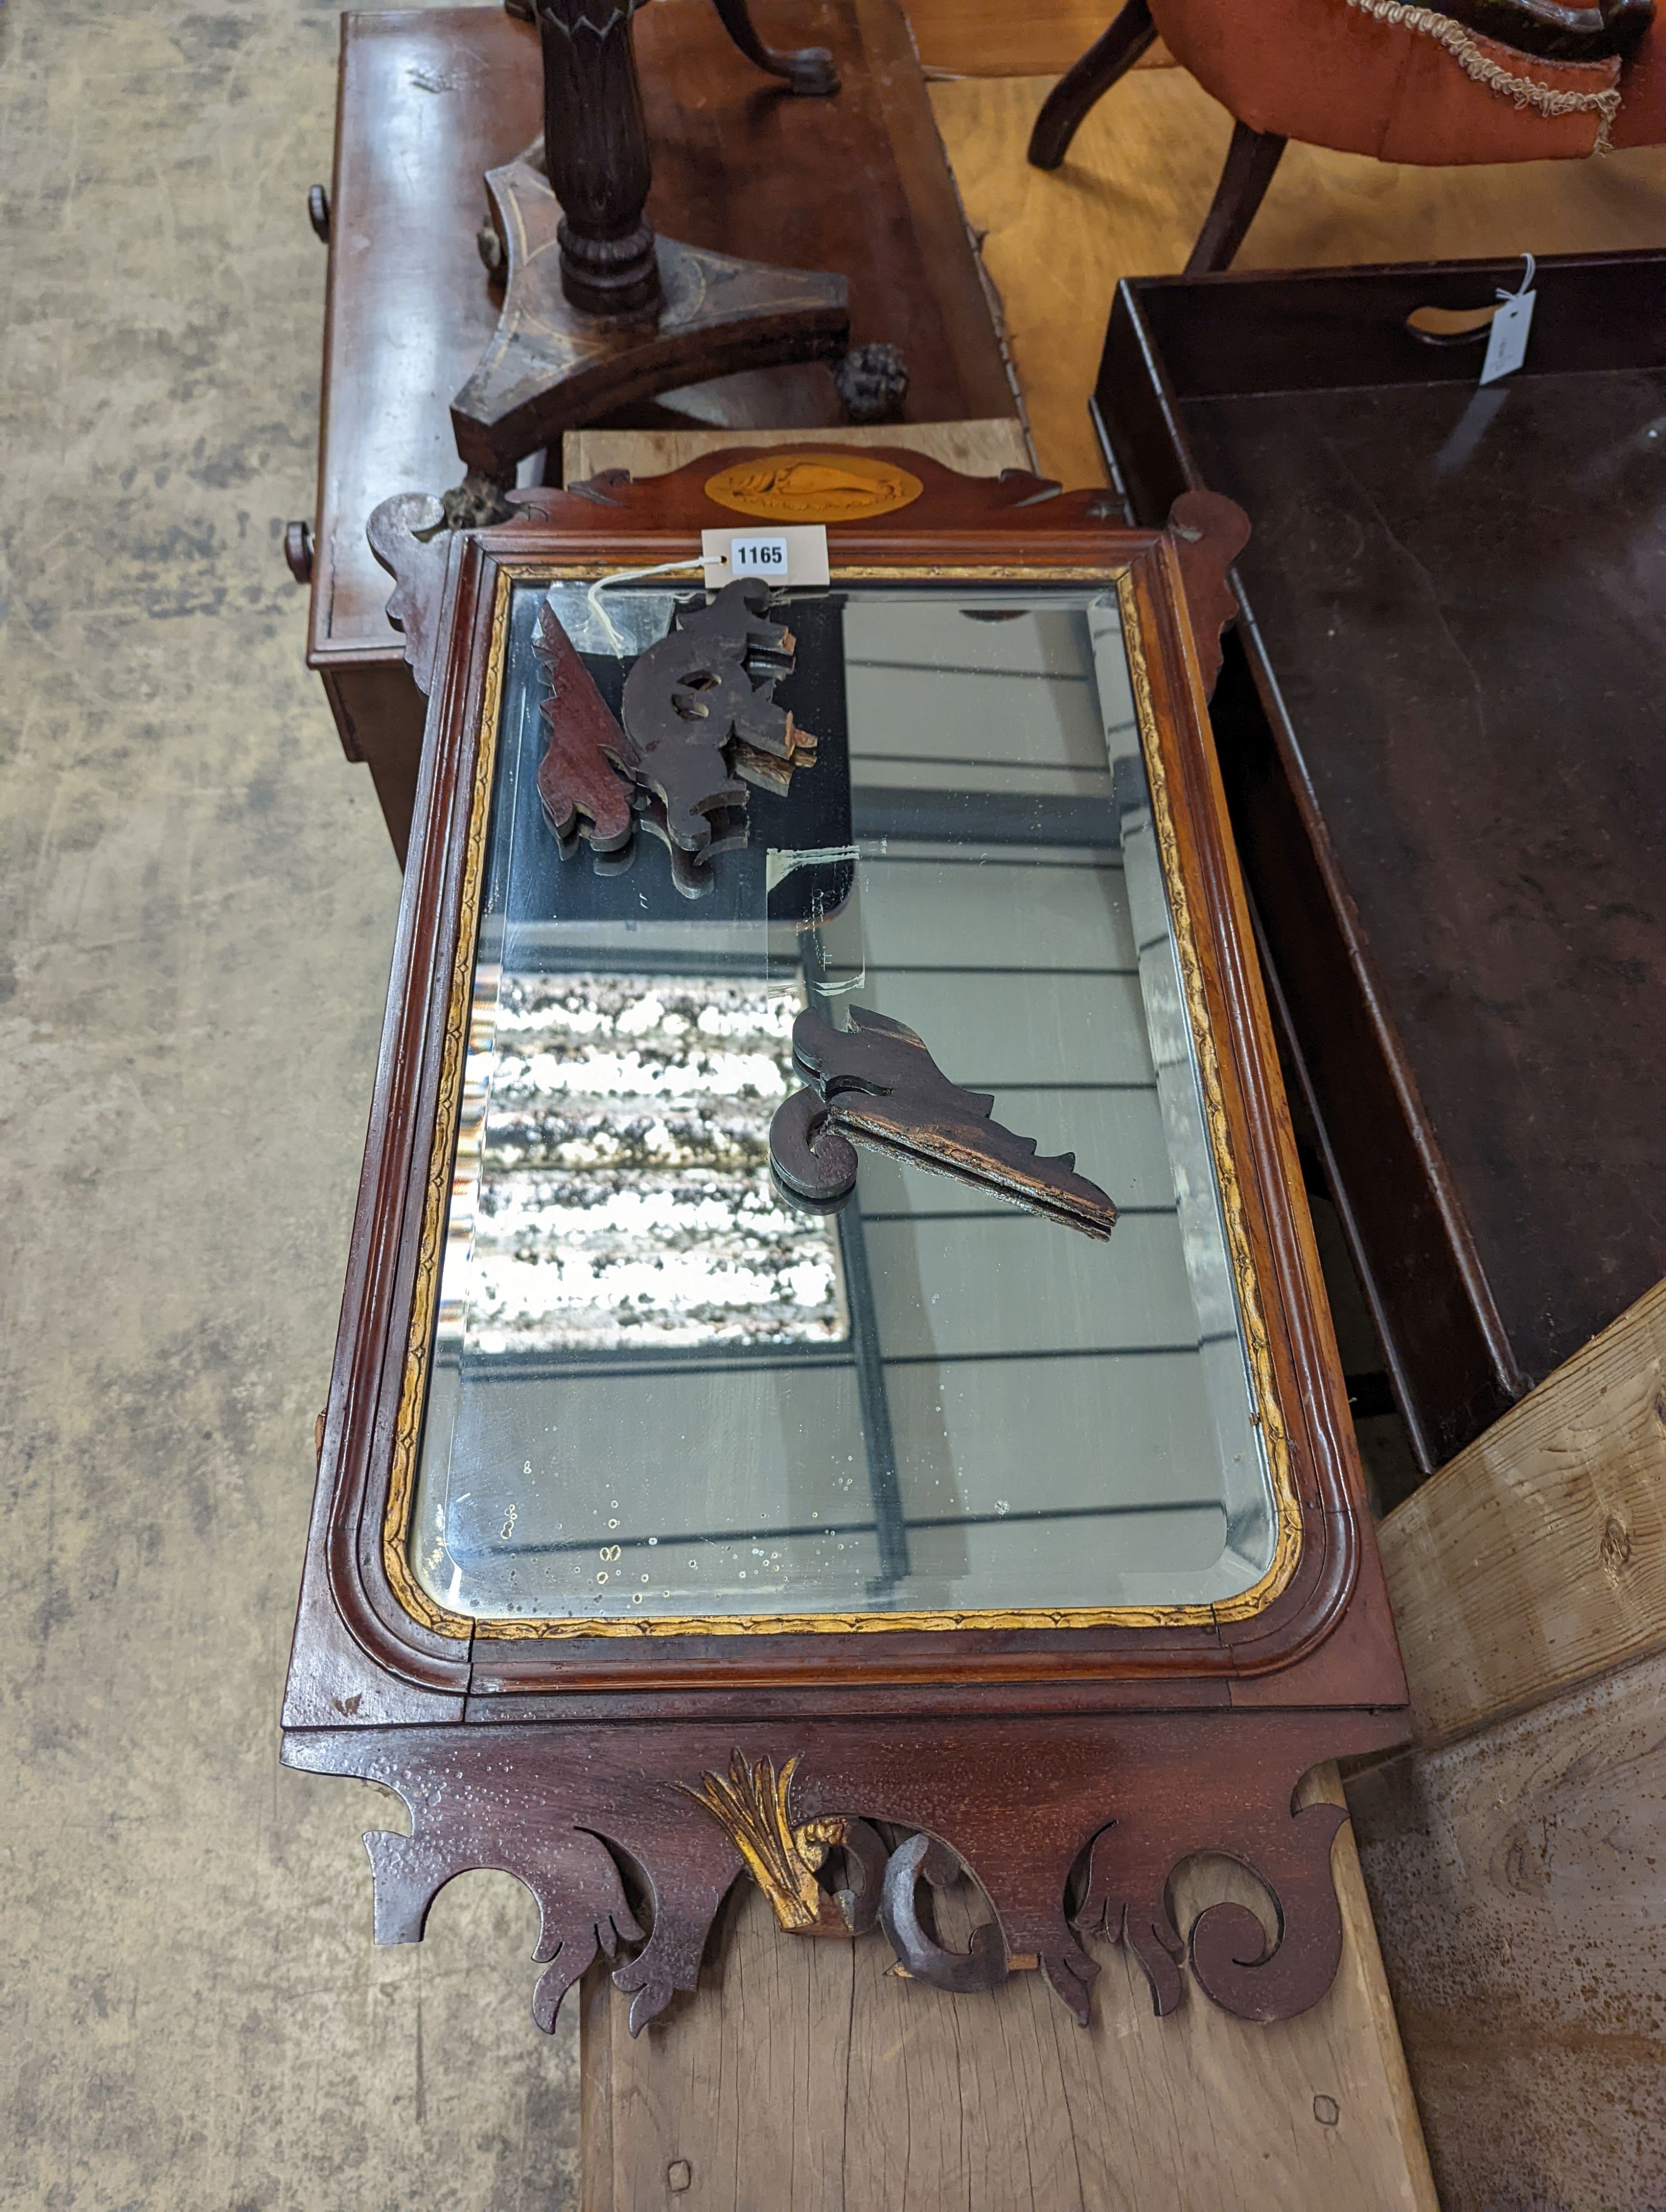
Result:
<svg viewBox="0 0 1666 2212"><path fill-rule="evenodd" d="M1288 1044L1425 1469L1666 1274L1666 257L1137 279L1139 520L1254 524L1215 697Z"/></svg>

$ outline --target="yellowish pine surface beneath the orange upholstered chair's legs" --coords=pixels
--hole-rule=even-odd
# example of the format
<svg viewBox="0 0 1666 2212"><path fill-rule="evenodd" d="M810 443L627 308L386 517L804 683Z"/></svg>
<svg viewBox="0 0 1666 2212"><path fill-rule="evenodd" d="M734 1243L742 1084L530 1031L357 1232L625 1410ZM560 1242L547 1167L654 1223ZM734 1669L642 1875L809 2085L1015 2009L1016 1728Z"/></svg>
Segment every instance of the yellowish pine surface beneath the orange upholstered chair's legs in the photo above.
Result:
<svg viewBox="0 0 1666 2212"><path fill-rule="evenodd" d="M1100 484L1086 403L1111 294L1122 276L1186 265L1232 117L1184 69L1142 69L1106 93L1049 175L1024 161L1049 88L1051 77L965 77L934 84L931 111L1002 301L1040 469L1064 484ZM1482 168L1405 168L1290 146L1232 265L1628 246L1666 246L1666 146Z"/></svg>

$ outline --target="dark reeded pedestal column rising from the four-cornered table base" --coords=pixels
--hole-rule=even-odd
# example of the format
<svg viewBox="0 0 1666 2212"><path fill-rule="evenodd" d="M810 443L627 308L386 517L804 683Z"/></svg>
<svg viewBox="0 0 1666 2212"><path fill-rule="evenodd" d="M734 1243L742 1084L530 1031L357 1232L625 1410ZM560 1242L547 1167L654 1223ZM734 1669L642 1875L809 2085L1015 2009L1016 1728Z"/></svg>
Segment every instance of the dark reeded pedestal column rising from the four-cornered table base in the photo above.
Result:
<svg viewBox="0 0 1666 2212"><path fill-rule="evenodd" d="M631 15L642 0L538 0L544 49L544 166L562 204L562 292L586 314L659 299L653 184Z"/></svg>

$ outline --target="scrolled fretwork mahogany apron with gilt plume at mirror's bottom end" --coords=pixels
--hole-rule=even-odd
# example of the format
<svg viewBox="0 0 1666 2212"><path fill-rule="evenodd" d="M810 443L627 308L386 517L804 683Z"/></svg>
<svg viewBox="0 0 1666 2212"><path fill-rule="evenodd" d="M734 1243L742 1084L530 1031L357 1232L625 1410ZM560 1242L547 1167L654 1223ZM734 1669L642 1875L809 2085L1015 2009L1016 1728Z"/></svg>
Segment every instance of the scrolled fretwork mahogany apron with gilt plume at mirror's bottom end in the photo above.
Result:
<svg viewBox="0 0 1666 2212"><path fill-rule="evenodd" d="M743 1871L785 1931L854 1938L878 1922L905 1978L943 1991L989 1991L1013 1971L1040 1969L1086 2026L1100 1969L1084 1942L1097 1938L1139 1960L1159 2015L1181 2004L1190 1964L1215 2004L1272 2022L1325 1995L1343 1944L1330 1849L1347 1816L1332 1803L1292 1809L1297 1781L1323 1754L1308 1728L1272 1730L1288 1721L1270 1717L1254 1767L1212 1776L1204 1765L1184 1796L1144 1803L1122 1787L1115 1809L1104 1803L1104 1770L1080 1756L1060 1803L1035 1805L1040 1832L1022 1851L1011 1849L1007 1827L980 1816L947 1763L876 1761L861 1781L858 1770L823 1767L814 1750L779 1739L754 1747L757 1756L730 1750L726 1767L697 1767L699 1781L664 1767L659 1776L595 1770L562 1743L562 1730L513 1725L292 1732L285 1759L378 1781L412 1809L409 1836L365 1838L378 1942L420 1942L434 1898L456 1874L496 1867L527 1885L544 1969L533 2020L546 2031L573 1982L602 1958L631 1997L633 2035L693 1991L712 1922ZM706 1750L717 1750L710 1736ZM839 1809L850 1801L865 1803L885 1834ZM958 1820L971 1827L949 1840ZM1080 1902L1066 1918L1071 1867L1084 1854ZM1197 1854L1235 1858L1266 1887L1272 1940L1257 1913L1232 1902L1177 1927L1173 1876ZM626 1863L639 1869L644 1900L626 1887ZM989 1918L956 1949L938 1911L962 1878L982 1891Z"/></svg>

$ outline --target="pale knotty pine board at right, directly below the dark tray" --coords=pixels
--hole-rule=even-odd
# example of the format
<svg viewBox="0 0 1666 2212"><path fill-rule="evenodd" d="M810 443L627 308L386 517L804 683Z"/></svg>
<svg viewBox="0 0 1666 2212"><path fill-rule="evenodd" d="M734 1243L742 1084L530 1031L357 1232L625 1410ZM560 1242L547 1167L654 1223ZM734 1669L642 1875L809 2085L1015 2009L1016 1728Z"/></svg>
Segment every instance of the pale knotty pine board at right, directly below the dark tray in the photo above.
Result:
<svg viewBox="0 0 1666 2212"><path fill-rule="evenodd" d="M1666 1646L1666 1283L1378 1528L1425 1743Z"/></svg>

